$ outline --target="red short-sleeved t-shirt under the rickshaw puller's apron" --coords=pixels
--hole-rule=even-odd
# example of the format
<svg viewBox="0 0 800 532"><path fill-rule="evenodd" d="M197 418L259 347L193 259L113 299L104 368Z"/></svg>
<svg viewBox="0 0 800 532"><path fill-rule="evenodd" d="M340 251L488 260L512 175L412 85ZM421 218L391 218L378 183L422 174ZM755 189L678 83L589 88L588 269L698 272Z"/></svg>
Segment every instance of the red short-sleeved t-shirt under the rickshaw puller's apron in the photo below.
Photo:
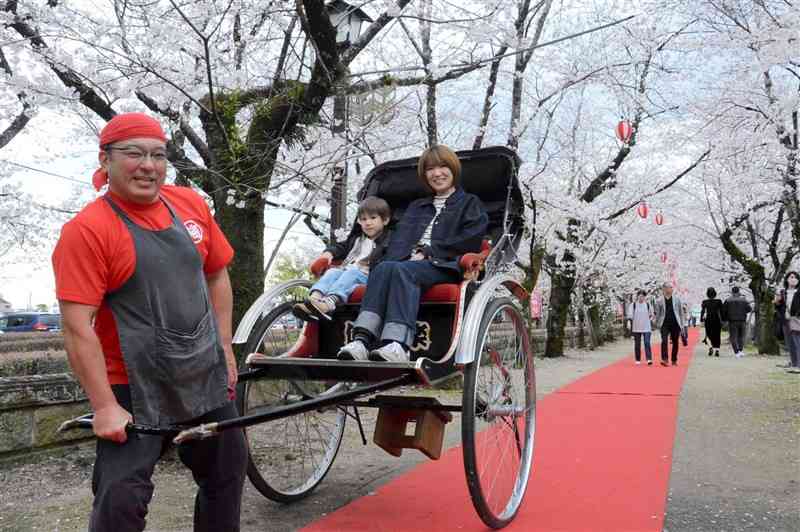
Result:
<svg viewBox="0 0 800 532"><path fill-rule="evenodd" d="M128 217L144 229L159 231L172 224L163 202L130 203L108 193ZM233 258L233 248L220 230L203 198L186 187L165 185L161 196L183 221L203 260L206 275L218 272ZM126 384L128 374L122 360L114 315L105 296L133 275L136 250L125 222L103 198L97 198L61 229L53 251L56 297L99 307L94 329L100 338L111 384Z"/></svg>

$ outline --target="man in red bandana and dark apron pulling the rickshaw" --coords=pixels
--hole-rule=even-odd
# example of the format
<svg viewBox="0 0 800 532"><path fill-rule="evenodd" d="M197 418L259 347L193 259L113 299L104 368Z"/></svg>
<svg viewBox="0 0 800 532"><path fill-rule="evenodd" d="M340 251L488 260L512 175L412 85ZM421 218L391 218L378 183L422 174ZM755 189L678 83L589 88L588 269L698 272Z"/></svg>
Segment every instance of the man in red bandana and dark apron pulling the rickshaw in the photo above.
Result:
<svg viewBox="0 0 800 532"><path fill-rule="evenodd" d="M145 528L153 470L167 427L237 417L231 346L233 248L205 200L165 185L167 137L141 113L100 132L108 193L61 230L53 252L56 296L72 370L94 411L96 458L90 532ZM178 447L198 486L196 532L240 529L247 445L240 429Z"/></svg>

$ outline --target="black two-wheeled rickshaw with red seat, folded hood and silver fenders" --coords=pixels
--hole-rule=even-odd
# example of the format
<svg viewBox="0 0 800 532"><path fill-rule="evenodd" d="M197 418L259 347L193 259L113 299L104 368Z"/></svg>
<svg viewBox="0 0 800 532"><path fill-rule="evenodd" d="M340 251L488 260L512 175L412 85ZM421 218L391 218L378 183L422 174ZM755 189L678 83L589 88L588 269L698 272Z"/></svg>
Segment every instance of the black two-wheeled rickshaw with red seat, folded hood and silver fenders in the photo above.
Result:
<svg viewBox="0 0 800 532"><path fill-rule="evenodd" d="M290 318L292 306L312 283L281 283L253 303L233 338L249 353L237 390L242 417L173 428L174 433L184 429L177 443L246 427L251 483L268 499L291 503L309 496L325 478L347 419L354 420L367 443L359 409L379 409L374 441L385 450L399 455L403 448L416 448L432 458L441 452L444 424L452 412L460 412L475 510L492 528L514 519L532 469L536 427L534 359L520 310L528 294L512 275L524 223L519 159L504 147L461 151L458 157L462 186L481 199L489 215L487 240L481 253L462 259L460 284L436 285L423 294L411 360L336 359L351 339L364 287L337 307L330 321L298 325ZM416 168L416 158L376 166L358 199L381 197L391 206L393 220L399 219L411 201L427 194ZM405 393L380 395L461 378L460 405ZM407 423L416 423L413 436L405 434Z"/></svg>

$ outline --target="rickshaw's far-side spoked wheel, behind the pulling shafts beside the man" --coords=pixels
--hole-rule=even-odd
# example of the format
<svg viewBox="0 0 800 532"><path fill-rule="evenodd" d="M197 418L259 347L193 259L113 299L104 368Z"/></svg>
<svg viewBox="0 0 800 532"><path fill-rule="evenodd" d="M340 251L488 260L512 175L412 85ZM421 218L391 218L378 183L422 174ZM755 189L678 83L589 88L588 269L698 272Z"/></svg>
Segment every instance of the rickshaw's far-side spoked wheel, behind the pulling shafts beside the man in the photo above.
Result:
<svg viewBox="0 0 800 532"><path fill-rule="evenodd" d="M301 331L286 325L293 322L293 304L278 305L256 323L247 339L247 353L278 356L294 344ZM272 379L244 384L238 399L241 415L315 397L331 387L315 381ZM276 502L290 503L309 495L333 465L345 417L345 411L334 406L247 428L250 482Z"/></svg>

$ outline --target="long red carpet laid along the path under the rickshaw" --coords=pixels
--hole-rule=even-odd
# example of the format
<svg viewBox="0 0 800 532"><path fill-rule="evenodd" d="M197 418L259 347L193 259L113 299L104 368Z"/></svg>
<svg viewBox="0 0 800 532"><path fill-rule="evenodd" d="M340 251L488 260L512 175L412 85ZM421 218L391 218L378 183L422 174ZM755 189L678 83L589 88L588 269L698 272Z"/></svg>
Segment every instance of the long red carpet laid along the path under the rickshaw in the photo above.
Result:
<svg viewBox="0 0 800 532"><path fill-rule="evenodd" d="M697 334L690 330L677 367L660 366L654 344L652 367L631 355L539 401L533 474L506 530L662 529L678 398ZM455 447L303 530L486 529Z"/></svg>

